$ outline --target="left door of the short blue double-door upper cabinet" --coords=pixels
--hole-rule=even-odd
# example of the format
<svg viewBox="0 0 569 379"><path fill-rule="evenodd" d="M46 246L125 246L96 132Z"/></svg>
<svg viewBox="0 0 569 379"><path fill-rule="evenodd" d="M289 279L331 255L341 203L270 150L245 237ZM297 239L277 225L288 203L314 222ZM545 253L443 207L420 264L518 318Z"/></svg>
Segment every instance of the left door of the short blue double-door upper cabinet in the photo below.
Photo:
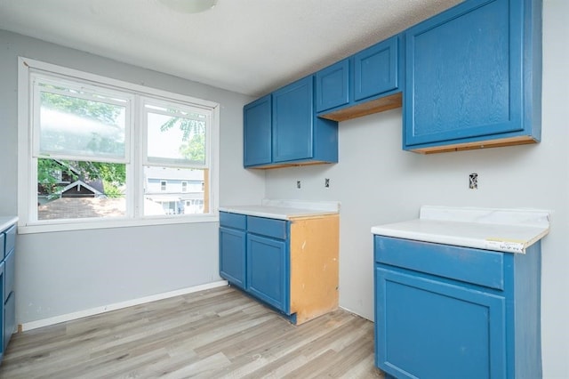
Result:
<svg viewBox="0 0 569 379"><path fill-rule="evenodd" d="M317 112L349 102L349 59L341 60L315 75Z"/></svg>

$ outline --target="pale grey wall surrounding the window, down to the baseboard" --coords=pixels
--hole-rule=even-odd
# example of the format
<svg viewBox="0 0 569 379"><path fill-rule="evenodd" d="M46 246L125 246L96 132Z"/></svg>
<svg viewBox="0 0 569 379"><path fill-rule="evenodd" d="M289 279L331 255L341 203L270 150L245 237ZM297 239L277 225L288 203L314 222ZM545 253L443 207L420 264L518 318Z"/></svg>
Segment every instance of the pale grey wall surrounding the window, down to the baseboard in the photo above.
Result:
<svg viewBox="0 0 569 379"><path fill-rule="evenodd" d="M259 203L243 169L242 94L0 30L0 214L17 214L18 56L220 103L220 204ZM164 57L167 59L167 57ZM217 222L19 235L16 321L28 323L220 280Z"/></svg>

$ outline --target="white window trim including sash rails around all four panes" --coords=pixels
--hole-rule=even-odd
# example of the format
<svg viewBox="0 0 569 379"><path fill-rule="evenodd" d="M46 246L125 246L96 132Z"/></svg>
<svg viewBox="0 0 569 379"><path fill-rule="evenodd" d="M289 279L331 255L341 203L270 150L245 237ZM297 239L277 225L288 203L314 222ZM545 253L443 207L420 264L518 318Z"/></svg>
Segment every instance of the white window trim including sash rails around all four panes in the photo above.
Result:
<svg viewBox="0 0 569 379"><path fill-rule="evenodd" d="M23 57L19 58L18 64L19 233L219 221L220 104ZM39 113L38 107L32 104L35 94L34 77L41 77L44 82L53 78L55 80L54 85L57 85L58 81L61 80L61 83L70 85L84 85L84 88L87 88L87 90L92 88L94 90L102 89L103 92L107 93L120 93L126 99L128 103L126 115L128 125L126 125L125 133L125 156L119 159L127 165L127 185L125 191L127 205L124 217L38 220L36 210L38 202L37 159L42 157L42 152L38 149L37 131L33 125L35 118L38 116L37 113ZM51 91L57 95L57 89ZM77 95L77 97L80 96L82 95ZM153 106L172 106L173 104L173 108L178 109L182 115L187 115L184 112L188 109L201 109L197 113L203 113L203 115L199 117L204 117L207 120L207 133L203 137L204 149L206 151L205 157L202 155L199 156L199 160L194 159L190 161L177 157L164 157L158 159L158 161L154 158L154 161L148 160L148 133L146 130L147 124L144 121L144 117L147 117L148 112L144 110L145 104L152 104ZM152 109L152 113L158 115L157 117L160 115L167 116L168 111L164 112L160 109L155 111ZM193 116L187 117L191 119ZM143 125L139 125L139 123ZM64 157L64 155L61 155L61 157ZM100 162L106 161L105 158L100 159L102 159ZM110 161L113 161L113 159ZM142 209L143 200L145 197L150 196L143 193L141 189L145 186L143 179L144 167L148 168L152 165L165 165L172 167L172 169L178 167L186 170L204 170L205 180L208 181L208 186L206 187L209 189L208 194L204 196L206 197L209 211L206 214L144 215L144 210ZM105 192L107 193L107 191ZM180 202L183 204L184 200L182 199Z"/></svg>

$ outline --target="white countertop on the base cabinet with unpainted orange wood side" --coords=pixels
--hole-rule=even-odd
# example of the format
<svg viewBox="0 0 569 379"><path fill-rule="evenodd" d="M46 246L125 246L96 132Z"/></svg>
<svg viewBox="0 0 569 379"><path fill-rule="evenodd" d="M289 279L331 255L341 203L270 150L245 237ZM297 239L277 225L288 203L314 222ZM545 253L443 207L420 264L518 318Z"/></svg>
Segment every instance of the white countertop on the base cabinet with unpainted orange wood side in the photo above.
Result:
<svg viewBox="0 0 569 379"><path fill-rule="evenodd" d="M340 203L336 201L303 201L303 200L268 200L261 201L260 206L220 206L220 211L232 214L267 217L271 219L290 220L297 217L338 214Z"/></svg>

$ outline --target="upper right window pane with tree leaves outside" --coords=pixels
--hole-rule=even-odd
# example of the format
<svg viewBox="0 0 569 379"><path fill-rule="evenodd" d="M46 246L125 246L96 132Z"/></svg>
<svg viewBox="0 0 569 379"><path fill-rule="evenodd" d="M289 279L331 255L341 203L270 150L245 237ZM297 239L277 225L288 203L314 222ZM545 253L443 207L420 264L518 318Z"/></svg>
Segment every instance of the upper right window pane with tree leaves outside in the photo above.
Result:
<svg viewBox="0 0 569 379"><path fill-rule="evenodd" d="M205 165L206 116L146 105L148 162Z"/></svg>

